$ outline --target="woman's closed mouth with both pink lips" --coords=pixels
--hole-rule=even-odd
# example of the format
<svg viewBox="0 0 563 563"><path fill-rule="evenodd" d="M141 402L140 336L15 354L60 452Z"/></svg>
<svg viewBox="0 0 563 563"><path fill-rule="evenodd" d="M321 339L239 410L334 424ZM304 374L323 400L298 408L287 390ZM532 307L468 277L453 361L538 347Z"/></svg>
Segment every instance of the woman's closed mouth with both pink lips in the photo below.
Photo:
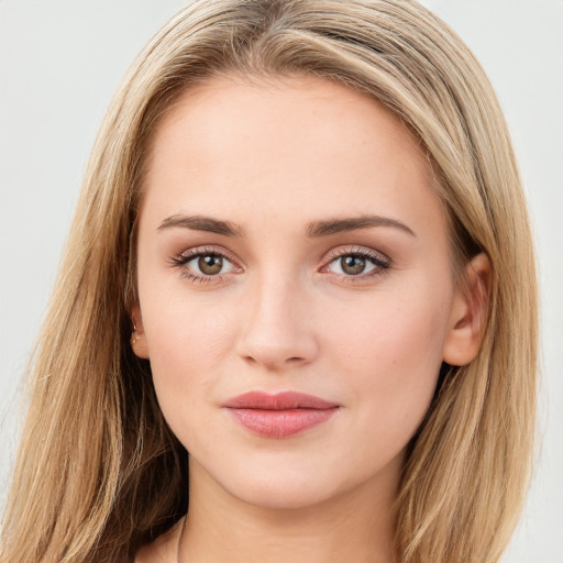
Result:
<svg viewBox="0 0 563 563"><path fill-rule="evenodd" d="M250 391L222 405L236 422L254 434L283 439L322 424L340 405L296 391L271 395Z"/></svg>

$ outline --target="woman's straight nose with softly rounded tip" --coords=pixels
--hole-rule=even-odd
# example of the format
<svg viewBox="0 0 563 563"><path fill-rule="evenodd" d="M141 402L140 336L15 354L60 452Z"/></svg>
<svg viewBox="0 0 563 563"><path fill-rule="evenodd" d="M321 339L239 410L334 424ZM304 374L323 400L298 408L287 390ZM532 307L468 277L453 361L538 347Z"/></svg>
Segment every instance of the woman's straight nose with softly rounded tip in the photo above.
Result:
<svg viewBox="0 0 563 563"><path fill-rule="evenodd" d="M303 288L289 280L249 288L238 354L249 364L283 372L318 354L314 319ZM308 307L309 305L309 307Z"/></svg>

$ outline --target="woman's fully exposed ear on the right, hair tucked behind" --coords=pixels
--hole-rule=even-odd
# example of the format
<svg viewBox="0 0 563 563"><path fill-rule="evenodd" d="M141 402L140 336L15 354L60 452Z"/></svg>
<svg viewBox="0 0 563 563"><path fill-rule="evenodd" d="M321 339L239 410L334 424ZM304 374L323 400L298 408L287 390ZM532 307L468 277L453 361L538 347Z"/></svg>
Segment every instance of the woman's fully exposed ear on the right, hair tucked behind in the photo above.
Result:
<svg viewBox="0 0 563 563"><path fill-rule="evenodd" d="M492 267L485 253L467 264L452 301L443 360L450 365L466 365L478 353L488 318Z"/></svg>

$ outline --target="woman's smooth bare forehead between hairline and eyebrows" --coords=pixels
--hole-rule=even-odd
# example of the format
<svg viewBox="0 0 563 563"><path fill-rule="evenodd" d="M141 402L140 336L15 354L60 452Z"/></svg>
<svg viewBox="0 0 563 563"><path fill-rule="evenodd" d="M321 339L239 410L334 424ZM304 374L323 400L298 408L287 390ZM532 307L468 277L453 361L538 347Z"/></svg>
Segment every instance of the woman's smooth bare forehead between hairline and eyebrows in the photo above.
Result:
<svg viewBox="0 0 563 563"><path fill-rule="evenodd" d="M155 216L440 216L410 130L367 95L311 76L220 77L185 91L154 134L144 189Z"/></svg>

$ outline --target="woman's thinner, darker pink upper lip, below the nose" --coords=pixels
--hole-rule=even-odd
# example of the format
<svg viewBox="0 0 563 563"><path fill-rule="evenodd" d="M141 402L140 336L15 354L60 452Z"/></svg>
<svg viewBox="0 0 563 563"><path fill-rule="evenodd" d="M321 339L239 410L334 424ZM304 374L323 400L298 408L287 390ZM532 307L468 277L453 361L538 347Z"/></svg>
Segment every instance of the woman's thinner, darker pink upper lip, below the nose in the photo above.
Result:
<svg viewBox="0 0 563 563"><path fill-rule="evenodd" d="M332 409L339 407L336 402L306 395L298 391L283 391L269 394L265 391L249 391L232 397L222 405L231 409L262 409L262 410L291 410L291 409Z"/></svg>

